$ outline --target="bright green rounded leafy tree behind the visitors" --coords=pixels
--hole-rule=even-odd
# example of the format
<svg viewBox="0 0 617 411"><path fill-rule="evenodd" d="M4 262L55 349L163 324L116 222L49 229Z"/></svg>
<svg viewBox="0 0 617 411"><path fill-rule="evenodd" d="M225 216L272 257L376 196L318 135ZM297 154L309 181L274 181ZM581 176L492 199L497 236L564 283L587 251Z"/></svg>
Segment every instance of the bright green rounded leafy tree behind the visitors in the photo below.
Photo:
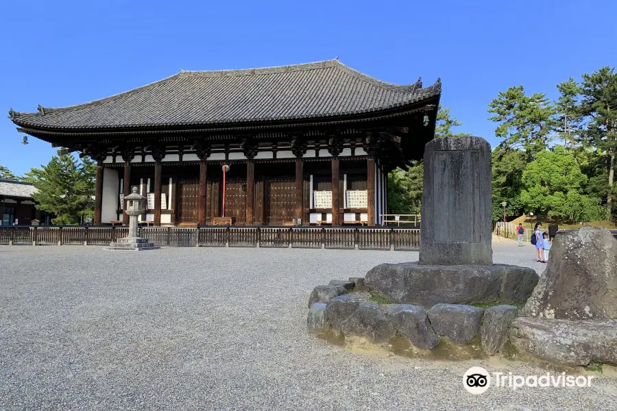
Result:
<svg viewBox="0 0 617 411"><path fill-rule="evenodd" d="M520 201L527 210L571 221L601 219L599 199L583 194L588 178L563 146L537 153L522 173Z"/></svg>

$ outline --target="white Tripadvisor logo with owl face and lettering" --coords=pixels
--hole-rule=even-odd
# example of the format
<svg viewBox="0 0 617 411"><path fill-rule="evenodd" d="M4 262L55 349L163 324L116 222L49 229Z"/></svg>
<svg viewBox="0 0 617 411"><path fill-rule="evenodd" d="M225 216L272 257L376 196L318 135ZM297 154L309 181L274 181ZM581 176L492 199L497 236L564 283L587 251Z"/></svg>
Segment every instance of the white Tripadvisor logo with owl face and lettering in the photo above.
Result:
<svg viewBox="0 0 617 411"><path fill-rule="evenodd" d="M522 387L590 387L592 375L566 375L546 373L543 375L513 375L512 373L489 373L481 366L472 366L463 375L463 387L469 393L485 393L492 385L498 388L517 390ZM493 382L493 384L491 384Z"/></svg>

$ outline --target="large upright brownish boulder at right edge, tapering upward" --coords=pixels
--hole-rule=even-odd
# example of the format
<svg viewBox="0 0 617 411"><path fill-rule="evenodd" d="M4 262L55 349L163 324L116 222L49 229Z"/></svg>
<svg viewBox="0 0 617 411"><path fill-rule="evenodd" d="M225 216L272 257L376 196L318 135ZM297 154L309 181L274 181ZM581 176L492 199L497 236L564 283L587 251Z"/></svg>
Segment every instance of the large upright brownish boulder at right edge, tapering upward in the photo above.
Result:
<svg viewBox="0 0 617 411"><path fill-rule="evenodd" d="M524 313L547 319L617 319L617 240L601 227L555 237Z"/></svg>

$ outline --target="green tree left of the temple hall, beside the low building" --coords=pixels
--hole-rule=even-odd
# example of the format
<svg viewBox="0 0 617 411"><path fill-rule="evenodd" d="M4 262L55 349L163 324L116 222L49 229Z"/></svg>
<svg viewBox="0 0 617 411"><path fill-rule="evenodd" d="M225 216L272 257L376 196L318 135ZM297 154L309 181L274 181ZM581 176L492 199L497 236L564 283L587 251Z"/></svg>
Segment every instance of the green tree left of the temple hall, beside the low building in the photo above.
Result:
<svg viewBox="0 0 617 411"><path fill-rule="evenodd" d="M34 182L37 208L55 214L53 224L75 225L93 215L95 166L89 158L78 162L71 154L54 155L46 166L26 175Z"/></svg>

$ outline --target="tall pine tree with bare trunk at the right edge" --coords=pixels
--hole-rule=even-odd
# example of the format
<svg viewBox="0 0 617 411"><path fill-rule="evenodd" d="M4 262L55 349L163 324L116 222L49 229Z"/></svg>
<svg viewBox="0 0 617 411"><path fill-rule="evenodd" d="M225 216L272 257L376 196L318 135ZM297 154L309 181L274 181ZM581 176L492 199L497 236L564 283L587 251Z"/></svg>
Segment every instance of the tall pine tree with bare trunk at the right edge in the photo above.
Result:
<svg viewBox="0 0 617 411"><path fill-rule="evenodd" d="M617 150L617 73L602 67L593 74L583 74L581 112L589 122L585 139L606 156L606 217L611 218L615 193L615 151Z"/></svg>

